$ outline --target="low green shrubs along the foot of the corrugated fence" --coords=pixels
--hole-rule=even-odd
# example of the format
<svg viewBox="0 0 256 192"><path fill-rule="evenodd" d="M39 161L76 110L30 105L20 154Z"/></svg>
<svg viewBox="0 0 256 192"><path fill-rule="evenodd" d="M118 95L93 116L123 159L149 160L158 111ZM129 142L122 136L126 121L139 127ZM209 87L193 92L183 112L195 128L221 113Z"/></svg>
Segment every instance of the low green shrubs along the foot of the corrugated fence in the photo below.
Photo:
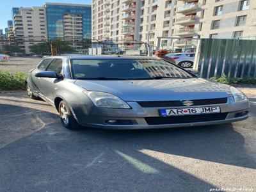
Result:
<svg viewBox="0 0 256 192"><path fill-rule="evenodd" d="M242 79L228 79L227 76L211 77L212 81L225 84L256 84L256 79L252 77L244 77Z"/></svg>

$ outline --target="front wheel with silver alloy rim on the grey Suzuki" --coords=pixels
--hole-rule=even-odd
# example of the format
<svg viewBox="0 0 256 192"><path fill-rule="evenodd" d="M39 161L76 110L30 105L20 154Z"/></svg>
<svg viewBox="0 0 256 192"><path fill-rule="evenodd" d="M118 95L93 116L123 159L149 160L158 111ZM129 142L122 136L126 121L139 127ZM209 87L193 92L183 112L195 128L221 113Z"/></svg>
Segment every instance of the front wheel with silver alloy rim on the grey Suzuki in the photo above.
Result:
<svg viewBox="0 0 256 192"><path fill-rule="evenodd" d="M70 110L67 102L65 102L64 100L61 100L59 104L59 113L60 113L61 123L64 127L66 127L67 129L80 128L80 125L77 124L76 118L74 118L74 115Z"/></svg>

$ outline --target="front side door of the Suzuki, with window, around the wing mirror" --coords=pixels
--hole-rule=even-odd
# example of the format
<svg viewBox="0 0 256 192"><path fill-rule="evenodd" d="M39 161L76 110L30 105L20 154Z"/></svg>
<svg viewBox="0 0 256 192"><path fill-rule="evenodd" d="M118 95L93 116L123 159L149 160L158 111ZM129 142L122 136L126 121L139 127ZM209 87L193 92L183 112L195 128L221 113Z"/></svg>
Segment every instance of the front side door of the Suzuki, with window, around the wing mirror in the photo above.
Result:
<svg viewBox="0 0 256 192"><path fill-rule="evenodd" d="M57 74L63 75L62 66L63 66L63 60L61 58L56 58L50 63L50 65L48 65L46 70L51 70L56 72ZM42 94L51 102L53 102L54 100L54 95L55 95L54 93L58 89L58 83L60 81L63 81L63 79L47 78L47 77L42 77L41 79Z"/></svg>

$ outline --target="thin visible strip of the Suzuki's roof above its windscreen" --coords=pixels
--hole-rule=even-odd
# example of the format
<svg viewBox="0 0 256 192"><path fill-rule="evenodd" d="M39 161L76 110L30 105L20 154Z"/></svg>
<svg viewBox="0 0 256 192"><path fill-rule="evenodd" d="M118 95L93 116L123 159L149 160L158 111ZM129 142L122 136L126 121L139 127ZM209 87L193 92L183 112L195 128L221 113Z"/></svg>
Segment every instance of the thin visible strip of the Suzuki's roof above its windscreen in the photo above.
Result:
<svg viewBox="0 0 256 192"><path fill-rule="evenodd" d="M49 58L66 58L69 60L122 60L122 59L159 59L150 56L122 56L122 55L86 55L86 56L49 56Z"/></svg>

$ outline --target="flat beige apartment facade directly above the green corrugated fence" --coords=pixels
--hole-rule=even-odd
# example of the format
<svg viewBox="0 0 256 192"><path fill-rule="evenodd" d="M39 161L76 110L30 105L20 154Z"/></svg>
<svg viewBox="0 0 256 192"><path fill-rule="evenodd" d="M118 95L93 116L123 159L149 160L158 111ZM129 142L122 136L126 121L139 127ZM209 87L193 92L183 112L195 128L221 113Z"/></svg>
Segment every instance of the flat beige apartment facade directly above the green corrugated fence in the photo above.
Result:
<svg viewBox="0 0 256 192"><path fill-rule="evenodd" d="M201 38L254 38L256 40L255 0L201 1L197 14Z"/></svg>

